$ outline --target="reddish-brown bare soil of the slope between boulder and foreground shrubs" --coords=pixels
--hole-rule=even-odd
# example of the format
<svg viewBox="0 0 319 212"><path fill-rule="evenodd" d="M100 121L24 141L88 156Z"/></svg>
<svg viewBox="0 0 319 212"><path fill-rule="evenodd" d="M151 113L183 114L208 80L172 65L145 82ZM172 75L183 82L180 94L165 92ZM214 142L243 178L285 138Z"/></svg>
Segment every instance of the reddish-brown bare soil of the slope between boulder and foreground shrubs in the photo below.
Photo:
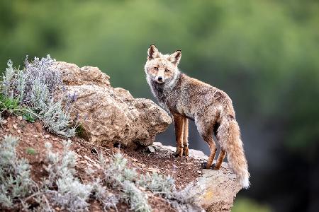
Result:
<svg viewBox="0 0 319 212"><path fill-rule="evenodd" d="M47 176L45 171L45 143L52 144L53 151L62 152L62 143L65 139L50 134L43 129L39 122L30 123L21 117L10 116L6 118L6 124L0 126L0 137L11 134L20 138L16 152L18 157L28 159L31 169L31 177L35 182ZM2 139L0 139L2 141ZM121 152L129 160L129 166L135 167L139 173L158 172L163 175L171 175L175 179L177 189L182 189L194 181L201 170L201 165L197 160L189 157L175 158L171 152L156 149L155 153L150 153L148 149L133 150L128 148L103 148L84 141L78 137L72 138L72 151L77 153L77 177L82 182L91 180L91 176L86 174L90 167L96 170L95 175L99 175L98 155L103 153L106 158L116 152ZM167 201L157 196L151 196L149 203L154 211L175 211L169 206ZM128 211L129 206L118 204L118 211ZM90 211L102 211L101 205L96 201L90 202Z"/></svg>

